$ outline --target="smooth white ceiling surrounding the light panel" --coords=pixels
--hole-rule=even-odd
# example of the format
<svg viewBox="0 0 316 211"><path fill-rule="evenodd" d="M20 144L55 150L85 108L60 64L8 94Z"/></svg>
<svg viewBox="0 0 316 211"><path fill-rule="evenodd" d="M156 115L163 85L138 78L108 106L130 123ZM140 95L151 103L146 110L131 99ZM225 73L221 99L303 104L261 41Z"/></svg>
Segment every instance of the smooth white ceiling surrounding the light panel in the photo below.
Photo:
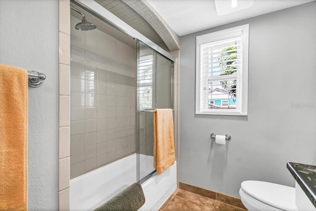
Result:
<svg viewBox="0 0 316 211"><path fill-rule="evenodd" d="M216 13L214 0L147 0L179 35L233 23L314 0L254 0L253 6L223 16Z"/></svg>

